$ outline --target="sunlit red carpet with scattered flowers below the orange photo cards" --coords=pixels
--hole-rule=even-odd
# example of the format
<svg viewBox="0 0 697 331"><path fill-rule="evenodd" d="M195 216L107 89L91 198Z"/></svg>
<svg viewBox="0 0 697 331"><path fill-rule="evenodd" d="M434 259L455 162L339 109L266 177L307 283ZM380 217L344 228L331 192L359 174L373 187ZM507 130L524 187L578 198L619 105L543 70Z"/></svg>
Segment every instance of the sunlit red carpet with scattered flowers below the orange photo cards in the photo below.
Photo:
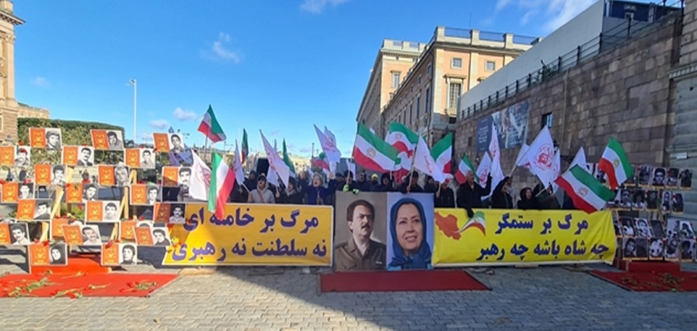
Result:
<svg viewBox="0 0 697 331"><path fill-rule="evenodd" d="M176 275L82 274L6 275L0 277L0 298L147 297Z"/></svg>

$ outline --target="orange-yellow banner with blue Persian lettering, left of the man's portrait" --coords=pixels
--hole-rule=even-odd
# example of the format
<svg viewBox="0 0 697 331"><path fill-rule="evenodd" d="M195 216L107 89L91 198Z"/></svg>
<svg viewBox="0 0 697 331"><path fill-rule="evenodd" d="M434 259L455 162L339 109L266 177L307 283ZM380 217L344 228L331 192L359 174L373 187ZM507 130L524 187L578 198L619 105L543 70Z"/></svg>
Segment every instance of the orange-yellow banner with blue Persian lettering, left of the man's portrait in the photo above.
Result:
<svg viewBox="0 0 697 331"><path fill-rule="evenodd" d="M228 204L224 219L187 203L163 265L331 265L331 206ZM177 243L178 242L178 243Z"/></svg>

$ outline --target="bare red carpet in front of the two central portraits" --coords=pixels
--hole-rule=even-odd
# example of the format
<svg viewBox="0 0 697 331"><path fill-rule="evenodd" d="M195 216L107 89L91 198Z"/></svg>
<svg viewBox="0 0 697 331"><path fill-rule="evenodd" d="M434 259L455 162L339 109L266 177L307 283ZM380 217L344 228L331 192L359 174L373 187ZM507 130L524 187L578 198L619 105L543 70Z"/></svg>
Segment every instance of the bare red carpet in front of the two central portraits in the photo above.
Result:
<svg viewBox="0 0 697 331"><path fill-rule="evenodd" d="M319 277L322 292L482 291L487 286L461 270L335 272Z"/></svg>

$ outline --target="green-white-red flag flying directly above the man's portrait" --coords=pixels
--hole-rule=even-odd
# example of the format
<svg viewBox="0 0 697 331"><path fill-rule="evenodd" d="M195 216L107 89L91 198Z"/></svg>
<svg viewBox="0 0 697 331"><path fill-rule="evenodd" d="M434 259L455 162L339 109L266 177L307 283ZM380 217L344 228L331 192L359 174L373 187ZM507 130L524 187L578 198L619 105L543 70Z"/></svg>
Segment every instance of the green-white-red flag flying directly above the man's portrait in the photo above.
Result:
<svg viewBox="0 0 697 331"><path fill-rule="evenodd" d="M395 169L397 150L359 123L353 143L353 160L365 169L387 172Z"/></svg>

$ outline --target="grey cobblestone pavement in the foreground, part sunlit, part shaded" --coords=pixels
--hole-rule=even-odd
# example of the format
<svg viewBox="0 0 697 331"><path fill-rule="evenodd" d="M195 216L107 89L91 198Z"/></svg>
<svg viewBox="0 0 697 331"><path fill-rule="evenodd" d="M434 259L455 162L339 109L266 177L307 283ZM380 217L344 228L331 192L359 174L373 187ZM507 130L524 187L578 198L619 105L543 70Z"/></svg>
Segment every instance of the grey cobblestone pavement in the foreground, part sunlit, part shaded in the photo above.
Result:
<svg viewBox="0 0 697 331"><path fill-rule="evenodd" d="M21 272L7 263L2 270ZM318 275L300 268L218 268L178 277L151 298L0 299L0 330L695 330L697 323L697 293L634 293L562 267L494 271L473 274L492 291L320 294Z"/></svg>

